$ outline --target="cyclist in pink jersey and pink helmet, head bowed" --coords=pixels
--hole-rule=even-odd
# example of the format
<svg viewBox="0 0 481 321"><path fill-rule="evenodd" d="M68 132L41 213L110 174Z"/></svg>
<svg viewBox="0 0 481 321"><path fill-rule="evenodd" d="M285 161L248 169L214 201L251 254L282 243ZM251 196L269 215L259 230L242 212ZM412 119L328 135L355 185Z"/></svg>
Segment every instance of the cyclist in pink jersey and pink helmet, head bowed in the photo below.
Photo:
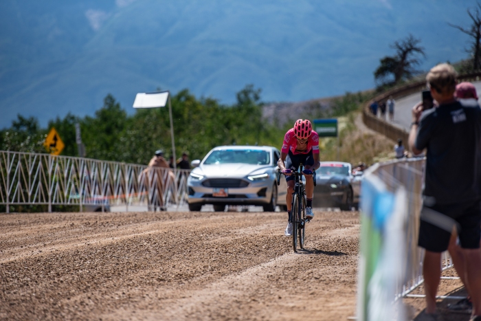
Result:
<svg viewBox="0 0 481 321"><path fill-rule="evenodd" d="M286 162L284 166L284 161ZM298 170L300 164L304 165L304 177L306 177L306 219L313 219L312 210L314 181L313 170L321 166L319 162L319 135L312 129L309 120L296 120L294 127L287 131L284 136L284 143L280 150L278 166L282 173L286 175L287 181L287 215L288 223L284 232L285 236L292 235L292 215L291 202L294 192L294 177L291 176L293 170Z"/></svg>

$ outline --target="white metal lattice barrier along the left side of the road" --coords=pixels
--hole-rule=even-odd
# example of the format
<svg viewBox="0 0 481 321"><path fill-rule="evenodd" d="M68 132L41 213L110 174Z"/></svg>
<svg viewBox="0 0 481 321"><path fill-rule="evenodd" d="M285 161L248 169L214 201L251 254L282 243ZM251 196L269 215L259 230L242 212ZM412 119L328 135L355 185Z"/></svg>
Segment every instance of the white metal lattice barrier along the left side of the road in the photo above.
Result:
<svg viewBox="0 0 481 321"><path fill-rule="evenodd" d="M190 170L0 151L0 205L148 206L187 201Z"/></svg>

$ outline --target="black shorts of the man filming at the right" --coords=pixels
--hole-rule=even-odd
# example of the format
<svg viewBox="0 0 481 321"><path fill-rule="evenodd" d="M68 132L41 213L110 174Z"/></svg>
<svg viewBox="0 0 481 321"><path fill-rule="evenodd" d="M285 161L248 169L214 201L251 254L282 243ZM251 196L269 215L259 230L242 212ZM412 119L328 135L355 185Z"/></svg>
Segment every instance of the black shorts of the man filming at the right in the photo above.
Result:
<svg viewBox="0 0 481 321"><path fill-rule="evenodd" d="M430 252L444 252L454 225L458 228L461 247L478 249L481 239L481 201L423 206L418 245Z"/></svg>

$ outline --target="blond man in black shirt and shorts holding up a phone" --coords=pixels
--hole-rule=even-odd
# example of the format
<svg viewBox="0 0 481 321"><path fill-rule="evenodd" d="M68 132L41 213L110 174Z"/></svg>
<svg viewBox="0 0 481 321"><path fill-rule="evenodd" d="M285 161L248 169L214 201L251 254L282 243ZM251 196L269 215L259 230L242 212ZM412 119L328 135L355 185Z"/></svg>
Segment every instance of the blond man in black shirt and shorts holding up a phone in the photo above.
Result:
<svg viewBox="0 0 481 321"><path fill-rule="evenodd" d="M481 181L476 175L481 168L481 109L456 101L456 71L451 65L437 65L426 80L439 106L424 113L422 102L413 107L409 137L414 154L427 148L418 237L418 245L425 248L425 313L436 313L441 253L457 225L473 302L471 320L481 320Z"/></svg>

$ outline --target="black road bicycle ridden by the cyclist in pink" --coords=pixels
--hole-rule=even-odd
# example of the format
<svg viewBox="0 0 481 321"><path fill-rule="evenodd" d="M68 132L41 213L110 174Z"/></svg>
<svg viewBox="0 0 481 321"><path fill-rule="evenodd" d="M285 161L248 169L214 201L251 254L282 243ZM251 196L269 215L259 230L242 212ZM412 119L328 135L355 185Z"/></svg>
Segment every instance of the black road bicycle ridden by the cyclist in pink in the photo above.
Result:
<svg viewBox="0 0 481 321"><path fill-rule="evenodd" d="M309 219L306 219L306 190L304 189L304 183L302 182L302 173L304 166L302 163L299 166L298 172L293 172L291 175L294 176L295 186L294 192L292 193L292 203L291 203L291 217L292 217L292 245L294 252L298 252L298 239L299 247L304 249L304 237L306 234L306 223L309 223ZM280 174L282 172L278 170L277 184L280 184ZM315 170L313 170L313 180L314 186L316 186L315 181Z"/></svg>

